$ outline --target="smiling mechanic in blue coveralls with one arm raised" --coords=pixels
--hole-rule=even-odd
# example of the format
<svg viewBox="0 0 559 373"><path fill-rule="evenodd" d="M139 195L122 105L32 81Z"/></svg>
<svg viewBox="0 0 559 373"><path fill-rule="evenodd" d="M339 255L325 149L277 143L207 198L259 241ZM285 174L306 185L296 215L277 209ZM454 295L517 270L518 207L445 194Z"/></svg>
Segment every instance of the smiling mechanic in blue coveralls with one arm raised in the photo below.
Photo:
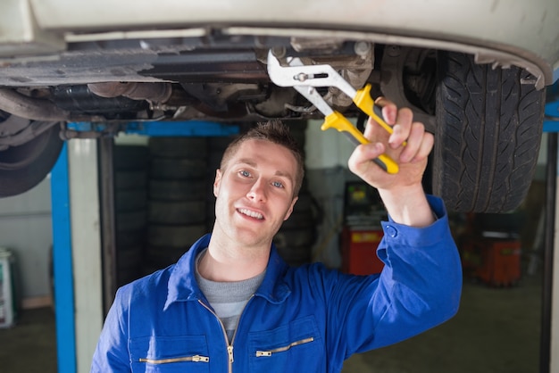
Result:
<svg viewBox="0 0 559 373"><path fill-rule="evenodd" d="M378 104L393 134L369 120L371 144L356 147L348 164L388 211L380 275L280 259L272 238L293 211L303 157L287 127L261 124L223 155L213 233L171 267L119 289L91 371L339 372L355 352L454 316L459 256L443 203L421 187L433 136L409 109ZM371 162L380 153L397 160L397 174Z"/></svg>

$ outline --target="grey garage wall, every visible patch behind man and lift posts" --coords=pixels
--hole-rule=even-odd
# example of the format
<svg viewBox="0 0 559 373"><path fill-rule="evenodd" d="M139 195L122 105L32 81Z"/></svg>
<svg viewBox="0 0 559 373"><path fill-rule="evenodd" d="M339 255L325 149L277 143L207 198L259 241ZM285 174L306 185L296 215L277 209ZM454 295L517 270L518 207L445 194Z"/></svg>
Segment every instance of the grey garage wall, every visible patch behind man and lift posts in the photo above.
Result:
<svg viewBox="0 0 559 373"><path fill-rule="evenodd" d="M324 213L313 253L315 260L338 268L341 265L338 233L341 228L344 185L346 180L355 179L347 170L347 159L354 145L334 129L322 131L321 123L321 120L309 122L305 145L309 187ZM145 145L146 139L117 137L115 142ZM545 139L540 153L546 153ZM545 156L540 156L539 164L543 163ZM543 167L538 169L543 170ZM0 246L11 249L15 254L18 295L24 306L41 306L50 302L52 241L50 178L25 194L0 198Z"/></svg>

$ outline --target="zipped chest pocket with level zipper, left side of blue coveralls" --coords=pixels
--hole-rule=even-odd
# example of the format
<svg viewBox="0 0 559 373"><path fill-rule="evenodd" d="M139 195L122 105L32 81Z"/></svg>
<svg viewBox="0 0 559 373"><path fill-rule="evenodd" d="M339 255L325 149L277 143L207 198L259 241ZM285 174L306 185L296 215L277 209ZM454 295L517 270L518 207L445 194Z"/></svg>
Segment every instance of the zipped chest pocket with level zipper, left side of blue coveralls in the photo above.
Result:
<svg viewBox="0 0 559 373"><path fill-rule="evenodd" d="M204 336L146 336L129 342L132 372L210 371Z"/></svg>

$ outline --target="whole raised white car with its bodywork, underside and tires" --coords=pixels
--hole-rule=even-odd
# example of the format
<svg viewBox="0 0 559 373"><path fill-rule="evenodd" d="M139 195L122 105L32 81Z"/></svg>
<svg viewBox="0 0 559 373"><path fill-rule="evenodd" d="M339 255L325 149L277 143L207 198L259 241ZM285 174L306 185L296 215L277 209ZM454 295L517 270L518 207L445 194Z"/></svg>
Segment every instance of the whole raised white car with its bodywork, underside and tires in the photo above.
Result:
<svg viewBox="0 0 559 373"><path fill-rule="evenodd" d="M450 210L509 211L559 78L556 0L4 0L0 25L0 177L19 180L0 196L46 175L58 123L70 138L88 135L72 121L117 133L129 120L320 118L271 83L273 50L412 108L436 135L433 193ZM321 94L358 115L346 95Z"/></svg>

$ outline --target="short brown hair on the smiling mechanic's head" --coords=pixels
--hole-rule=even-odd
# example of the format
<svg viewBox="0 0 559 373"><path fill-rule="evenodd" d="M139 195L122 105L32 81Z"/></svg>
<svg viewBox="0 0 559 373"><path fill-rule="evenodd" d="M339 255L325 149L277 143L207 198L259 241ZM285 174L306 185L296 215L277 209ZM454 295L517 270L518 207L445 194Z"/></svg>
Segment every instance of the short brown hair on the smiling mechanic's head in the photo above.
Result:
<svg viewBox="0 0 559 373"><path fill-rule="evenodd" d="M223 157L221 158L221 170L225 169L229 159L231 159L233 154L237 152L238 146L246 140L270 141L271 143L284 146L293 154L297 163L293 196L295 197L298 195L301 185L303 184L303 178L305 177L305 160L303 152L296 143L295 138L289 132L288 126L280 120L269 120L258 123L254 128L250 128L245 134L237 137L227 146L225 152L223 153Z"/></svg>

